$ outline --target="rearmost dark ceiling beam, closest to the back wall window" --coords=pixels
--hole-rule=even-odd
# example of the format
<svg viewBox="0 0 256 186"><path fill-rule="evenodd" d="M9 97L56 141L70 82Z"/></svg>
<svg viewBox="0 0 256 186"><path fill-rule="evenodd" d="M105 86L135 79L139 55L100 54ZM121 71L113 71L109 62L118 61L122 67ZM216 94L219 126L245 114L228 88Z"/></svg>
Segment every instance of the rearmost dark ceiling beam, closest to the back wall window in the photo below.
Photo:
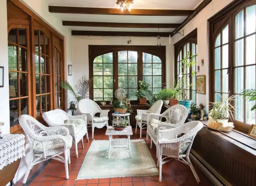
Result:
<svg viewBox="0 0 256 186"><path fill-rule="evenodd" d="M72 30L72 35L90 35L90 36L136 36L136 37L169 37L169 32L105 32L105 31L87 31Z"/></svg>

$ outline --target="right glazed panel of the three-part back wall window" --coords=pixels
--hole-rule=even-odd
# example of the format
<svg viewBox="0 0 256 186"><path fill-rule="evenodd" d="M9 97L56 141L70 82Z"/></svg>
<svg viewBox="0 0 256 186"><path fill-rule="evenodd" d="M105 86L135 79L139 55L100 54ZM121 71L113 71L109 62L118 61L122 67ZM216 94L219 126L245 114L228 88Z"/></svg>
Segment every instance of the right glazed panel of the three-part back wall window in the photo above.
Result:
<svg viewBox="0 0 256 186"><path fill-rule="evenodd" d="M162 64L159 57L143 52L143 78L150 84L153 94L161 91Z"/></svg>

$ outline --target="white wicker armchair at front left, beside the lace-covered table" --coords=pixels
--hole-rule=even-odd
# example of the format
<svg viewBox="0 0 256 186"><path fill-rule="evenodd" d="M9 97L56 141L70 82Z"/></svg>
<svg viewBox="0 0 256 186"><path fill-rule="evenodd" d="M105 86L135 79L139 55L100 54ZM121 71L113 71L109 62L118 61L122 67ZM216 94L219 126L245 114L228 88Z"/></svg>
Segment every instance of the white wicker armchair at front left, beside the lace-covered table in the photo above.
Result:
<svg viewBox="0 0 256 186"><path fill-rule="evenodd" d="M69 135L69 130L64 126L46 127L26 114L19 117L19 123L33 149L33 156L28 164L23 184L26 184L28 174L34 165L50 158L65 164L66 179L69 179L68 164L70 164L72 146L72 136ZM60 155L62 153L64 157Z"/></svg>

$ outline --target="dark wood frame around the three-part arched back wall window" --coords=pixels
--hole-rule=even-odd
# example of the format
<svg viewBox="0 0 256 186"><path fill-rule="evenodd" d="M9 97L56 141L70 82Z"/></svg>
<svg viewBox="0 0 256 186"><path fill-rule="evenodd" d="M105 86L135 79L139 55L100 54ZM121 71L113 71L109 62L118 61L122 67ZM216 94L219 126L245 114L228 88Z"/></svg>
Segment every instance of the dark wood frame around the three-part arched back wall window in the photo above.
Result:
<svg viewBox="0 0 256 186"><path fill-rule="evenodd" d="M93 61L95 57L113 52L113 69L118 69L118 51L138 51L138 81L143 80L143 52L157 56L162 64L162 88L166 84L166 47L161 46L120 46L120 45L89 45L89 77L93 78ZM113 78L118 78L118 72L113 70ZM113 83L113 94L118 89L118 81ZM93 99L93 84L90 87L90 97ZM97 101L100 102L100 101ZM138 101L131 101L131 104L137 104Z"/></svg>

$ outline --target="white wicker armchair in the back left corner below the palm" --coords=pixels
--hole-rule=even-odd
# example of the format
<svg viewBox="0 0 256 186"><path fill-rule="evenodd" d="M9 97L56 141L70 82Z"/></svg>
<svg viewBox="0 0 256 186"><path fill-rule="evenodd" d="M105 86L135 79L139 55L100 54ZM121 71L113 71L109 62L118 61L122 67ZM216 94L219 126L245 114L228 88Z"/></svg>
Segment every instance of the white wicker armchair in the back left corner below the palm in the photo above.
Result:
<svg viewBox="0 0 256 186"><path fill-rule="evenodd" d="M99 105L91 99L82 99L77 106L81 114L87 115L87 124L92 126L92 139L94 128L108 127L108 112L109 110L100 109ZM95 117L95 114L100 113L100 117Z"/></svg>

